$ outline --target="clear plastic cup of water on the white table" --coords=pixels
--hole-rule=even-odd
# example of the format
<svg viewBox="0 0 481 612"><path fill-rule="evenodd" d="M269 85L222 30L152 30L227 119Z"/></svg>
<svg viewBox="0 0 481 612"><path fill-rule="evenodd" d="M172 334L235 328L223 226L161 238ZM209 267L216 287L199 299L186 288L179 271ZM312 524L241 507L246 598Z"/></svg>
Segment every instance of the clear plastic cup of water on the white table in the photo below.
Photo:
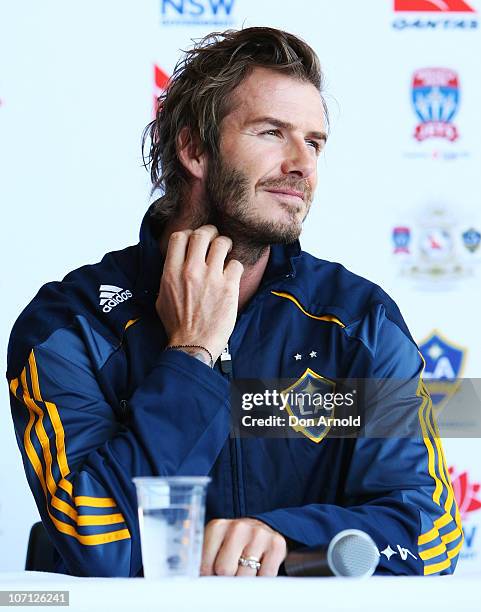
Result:
<svg viewBox="0 0 481 612"><path fill-rule="evenodd" d="M134 478L146 578L199 576L208 476Z"/></svg>

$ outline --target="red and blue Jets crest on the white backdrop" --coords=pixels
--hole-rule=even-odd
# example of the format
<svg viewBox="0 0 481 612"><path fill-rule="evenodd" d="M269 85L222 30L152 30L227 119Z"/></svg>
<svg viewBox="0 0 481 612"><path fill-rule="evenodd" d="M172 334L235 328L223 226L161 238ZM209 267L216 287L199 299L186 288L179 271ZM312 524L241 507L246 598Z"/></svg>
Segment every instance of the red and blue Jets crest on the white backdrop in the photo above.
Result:
<svg viewBox="0 0 481 612"><path fill-rule="evenodd" d="M450 142L459 134L453 119L459 108L459 78L448 68L421 68L412 78L411 100L419 123L414 138L444 138Z"/></svg>

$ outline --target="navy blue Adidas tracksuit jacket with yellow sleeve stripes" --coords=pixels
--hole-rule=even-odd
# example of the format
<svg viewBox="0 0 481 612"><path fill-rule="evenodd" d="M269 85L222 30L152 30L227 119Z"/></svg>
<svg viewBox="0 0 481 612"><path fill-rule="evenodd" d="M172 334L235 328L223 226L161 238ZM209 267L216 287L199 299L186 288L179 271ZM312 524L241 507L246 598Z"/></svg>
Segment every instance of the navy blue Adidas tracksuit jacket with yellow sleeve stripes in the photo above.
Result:
<svg viewBox="0 0 481 612"><path fill-rule="evenodd" d="M139 244L48 283L13 328L15 432L59 571L141 575L132 478L210 475L206 521L255 517L307 546L362 529L380 551L378 573L452 573L459 512L423 361L394 302L299 243L273 246L229 341L234 378L297 379L310 368L414 381L404 400L423 435L233 439L219 364L163 350L161 270L147 213Z"/></svg>

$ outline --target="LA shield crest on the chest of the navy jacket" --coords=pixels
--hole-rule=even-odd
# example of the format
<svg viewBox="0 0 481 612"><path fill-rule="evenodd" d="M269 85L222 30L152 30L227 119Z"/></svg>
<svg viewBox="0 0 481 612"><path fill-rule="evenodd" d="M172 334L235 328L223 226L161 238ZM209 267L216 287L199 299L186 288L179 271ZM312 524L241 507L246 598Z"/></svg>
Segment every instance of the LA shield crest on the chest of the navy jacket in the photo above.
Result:
<svg viewBox="0 0 481 612"><path fill-rule="evenodd" d="M294 431L313 442L320 442L331 428L334 417L332 397L336 384L307 368L290 387L281 391L286 396L286 410Z"/></svg>

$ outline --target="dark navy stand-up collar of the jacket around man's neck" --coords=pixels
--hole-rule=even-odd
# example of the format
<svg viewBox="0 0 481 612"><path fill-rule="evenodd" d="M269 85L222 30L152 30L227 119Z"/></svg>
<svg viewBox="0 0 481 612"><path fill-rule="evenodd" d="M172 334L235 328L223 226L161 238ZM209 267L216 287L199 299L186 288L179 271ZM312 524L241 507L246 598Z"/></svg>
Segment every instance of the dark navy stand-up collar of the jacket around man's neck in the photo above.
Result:
<svg viewBox="0 0 481 612"><path fill-rule="evenodd" d="M153 204L148 208L140 226L140 267L138 281L135 287L137 299L149 299L149 296L157 295L159 290L160 275L164 261L159 250L157 239L154 237L151 227L151 213ZM296 275L296 262L302 255L299 240L291 244L273 244L269 255L262 284L281 277L294 277Z"/></svg>

